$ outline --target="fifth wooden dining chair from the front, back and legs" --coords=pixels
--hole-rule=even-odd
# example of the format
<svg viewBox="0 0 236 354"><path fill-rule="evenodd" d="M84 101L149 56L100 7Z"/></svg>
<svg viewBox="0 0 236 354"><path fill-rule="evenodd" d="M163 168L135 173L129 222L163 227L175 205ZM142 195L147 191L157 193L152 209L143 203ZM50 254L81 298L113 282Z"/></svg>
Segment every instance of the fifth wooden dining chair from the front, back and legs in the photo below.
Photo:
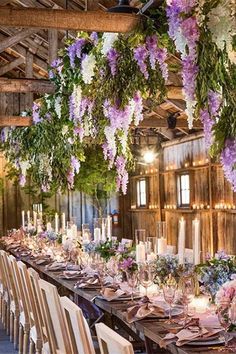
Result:
<svg viewBox="0 0 236 354"><path fill-rule="evenodd" d="M30 316L30 354L41 354L43 348L43 334L36 310L37 302L35 301L30 275L25 263L17 262L19 273L24 288L26 305Z"/></svg>

